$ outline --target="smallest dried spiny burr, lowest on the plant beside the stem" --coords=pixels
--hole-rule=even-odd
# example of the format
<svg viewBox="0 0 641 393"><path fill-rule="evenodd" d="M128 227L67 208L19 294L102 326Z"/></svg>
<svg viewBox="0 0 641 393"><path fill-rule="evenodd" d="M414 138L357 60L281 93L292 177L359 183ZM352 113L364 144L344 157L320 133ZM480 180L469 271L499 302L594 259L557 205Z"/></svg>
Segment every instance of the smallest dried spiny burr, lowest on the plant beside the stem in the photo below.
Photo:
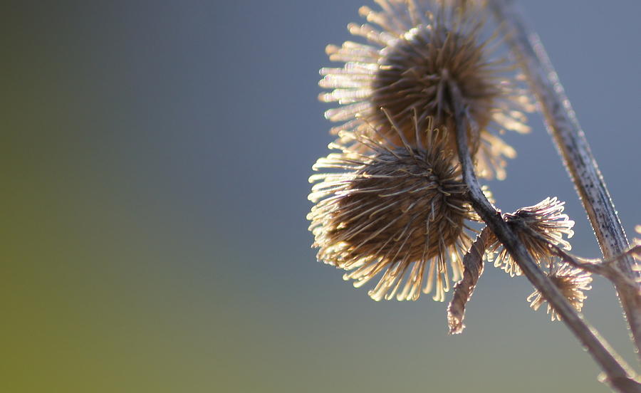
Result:
<svg viewBox="0 0 641 393"><path fill-rule="evenodd" d="M561 290L563 296L568 299L570 305L577 311L583 308L583 300L588 298L588 295L583 293L584 290L592 289L592 273L583 271L580 268L575 268L568 263L556 263L556 265L548 273L550 280L556 285L556 288ZM530 307L534 310L546 303L546 299L538 290L535 290L528 296ZM548 304L548 314L551 314L552 320L561 320L561 316L556 313L551 305Z"/></svg>

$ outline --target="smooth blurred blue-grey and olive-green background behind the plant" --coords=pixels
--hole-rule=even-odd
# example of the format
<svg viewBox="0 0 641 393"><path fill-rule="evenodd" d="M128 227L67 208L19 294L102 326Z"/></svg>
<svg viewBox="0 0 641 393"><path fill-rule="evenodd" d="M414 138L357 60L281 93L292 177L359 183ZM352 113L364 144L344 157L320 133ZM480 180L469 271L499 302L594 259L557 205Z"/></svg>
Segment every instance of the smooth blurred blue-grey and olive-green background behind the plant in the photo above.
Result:
<svg viewBox="0 0 641 393"><path fill-rule="evenodd" d="M641 3L521 3L632 237ZM486 268L449 336L445 303L375 303L316 262L307 178L333 139L318 69L361 5L4 3L0 391L608 392L524 278ZM530 124L506 135L497 205L566 200L574 252L598 256ZM585 315L634 364L613 288L593 287Z"/></svg>

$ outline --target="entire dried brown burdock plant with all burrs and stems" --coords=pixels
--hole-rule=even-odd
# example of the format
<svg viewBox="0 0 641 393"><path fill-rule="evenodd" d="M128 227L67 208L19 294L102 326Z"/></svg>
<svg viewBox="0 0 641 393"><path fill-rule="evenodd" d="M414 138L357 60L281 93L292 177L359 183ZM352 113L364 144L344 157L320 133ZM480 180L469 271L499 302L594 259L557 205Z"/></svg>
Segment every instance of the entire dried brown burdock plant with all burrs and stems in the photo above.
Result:
<svg viewBox="0 0 641 393"><path fill-rule="evenodd" d="M442 301L452 279L457 285L447 321L450 332L459 333L484 258L494 259L510 276L528 278L536 289L527 298L531 308L547 302L551 319L563 320L588 348L610 387L641 392L635 374L578 314L591 274L610 279L641 350L641 279L635 273L641 269L629 261L639 257L639 248L622 248L625 235L613 226L616 212L589 152L566 151L587 142L553 83L556 74L541 72L551 66L529 41L535 35L526 34L514 11L505 11L511 8L504 0L375 1L380 11L360 9L368 23L348 26L367 43L328 46L330 60L344 64L320 70L320 86L333 89L320 100L339 105L325 117L343 124L330 130L338 135L330 147L339 152L318 159L313 169L323 173L310 178L315 205L308 219L318 260L346 271L343 278L356 287L377 278L369 291L374 300L417 300L434 289L434 300ZM487 9L511 30L487 34ZM553 125L600 243L615 258L588 261L566 252L574 221L556 198L501 214L478 183L477 176L503 179L504 158L515 156L496 134L528 131L528 95L514 64L496 56L504 41ZM563 138L572 143L561 145ZM591 172L585 169L590 165ZM486 227L475 230L474 222ZM474 232L479 236L472 242Z"/></svg>

